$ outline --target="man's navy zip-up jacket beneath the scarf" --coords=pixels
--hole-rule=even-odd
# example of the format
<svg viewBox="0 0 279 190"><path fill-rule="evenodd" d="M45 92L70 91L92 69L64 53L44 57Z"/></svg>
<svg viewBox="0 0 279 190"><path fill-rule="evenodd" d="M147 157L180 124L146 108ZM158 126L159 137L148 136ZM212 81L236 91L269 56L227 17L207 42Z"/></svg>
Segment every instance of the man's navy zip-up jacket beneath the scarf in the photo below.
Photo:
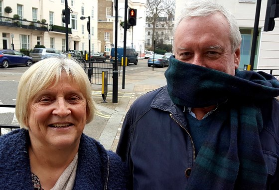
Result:
<svg viewBox="0 0 279 190"><path fill-rule="evenodd" d="M269 172L267 189L278 190L279 102L257 104L264 120L260 139ZM173 104L166 86L140 96L126 115L117 148L134 190L186 190L185 173L194 163L191 141L183 110Z"/></svg>

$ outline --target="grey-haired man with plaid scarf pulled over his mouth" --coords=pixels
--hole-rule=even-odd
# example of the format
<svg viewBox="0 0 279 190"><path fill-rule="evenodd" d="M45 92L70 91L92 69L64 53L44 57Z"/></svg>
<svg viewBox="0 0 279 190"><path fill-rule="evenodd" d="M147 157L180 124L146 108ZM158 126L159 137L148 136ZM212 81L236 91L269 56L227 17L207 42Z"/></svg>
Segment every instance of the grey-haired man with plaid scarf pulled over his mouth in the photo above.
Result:
<svg viewBox="0 0 279 190"><path fill-rule="evenodd" d="M279 81L239 71L240 44L221 5L183 10L167 85L139 97L123 123L117 153L134 190L278 189Z"/></svg>

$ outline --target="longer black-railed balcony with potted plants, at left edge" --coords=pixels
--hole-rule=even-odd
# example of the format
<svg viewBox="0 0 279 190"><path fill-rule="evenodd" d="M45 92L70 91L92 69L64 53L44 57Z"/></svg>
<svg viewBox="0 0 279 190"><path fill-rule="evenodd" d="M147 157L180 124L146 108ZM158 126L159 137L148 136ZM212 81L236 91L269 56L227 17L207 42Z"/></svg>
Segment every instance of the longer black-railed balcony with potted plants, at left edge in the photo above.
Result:
<svg viewBox="0 0 279 190"><path fill-rule="evenodd" d="M48 24L0 16L0 26L47 31Z"/></svg>

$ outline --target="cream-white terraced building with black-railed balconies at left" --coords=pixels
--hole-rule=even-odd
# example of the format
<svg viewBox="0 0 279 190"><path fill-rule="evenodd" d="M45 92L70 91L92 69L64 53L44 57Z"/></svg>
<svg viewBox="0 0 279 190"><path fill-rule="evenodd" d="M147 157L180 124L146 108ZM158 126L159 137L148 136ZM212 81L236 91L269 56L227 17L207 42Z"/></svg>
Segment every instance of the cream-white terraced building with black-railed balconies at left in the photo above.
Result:
<svg viewBox="0 0 279 190"><path fill-rule="evenodd" d="M9 14L4 10L7 6L12 8ZM100 51L100 42L97 40L98 0L68 0L68 6L71 9L69 49L88 51L87 21L90 16L91 51ZM62 9L65 9L65 0L0 0L0 49L12 48L13 43L14 49L30 50L40 44L64 52L65 30L59 28L65 27ZM14 14L20 18L16 27L11 25L14 24ZM87 18L81 20L81 16ZM40 24L42 20L45 24Z"/></svg>

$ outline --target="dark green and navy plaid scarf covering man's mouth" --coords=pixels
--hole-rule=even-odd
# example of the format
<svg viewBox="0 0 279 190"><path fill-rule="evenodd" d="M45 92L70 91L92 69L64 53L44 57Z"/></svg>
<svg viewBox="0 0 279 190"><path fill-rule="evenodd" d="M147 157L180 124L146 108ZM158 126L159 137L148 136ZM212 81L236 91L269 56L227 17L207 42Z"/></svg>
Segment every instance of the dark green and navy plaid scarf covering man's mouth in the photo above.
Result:
<svg viewBox="0 0 279 190"><path fill-rule="evenodd" d="M252 102L279 96L279 81L263 72L236 70L231 76L174 57L165 77L175 104L206 107L229 100L230 105L213 121L187 190L265 189L267 167L259 138L262 113ZM224 133L230 138L221 138Z"/></svg>

